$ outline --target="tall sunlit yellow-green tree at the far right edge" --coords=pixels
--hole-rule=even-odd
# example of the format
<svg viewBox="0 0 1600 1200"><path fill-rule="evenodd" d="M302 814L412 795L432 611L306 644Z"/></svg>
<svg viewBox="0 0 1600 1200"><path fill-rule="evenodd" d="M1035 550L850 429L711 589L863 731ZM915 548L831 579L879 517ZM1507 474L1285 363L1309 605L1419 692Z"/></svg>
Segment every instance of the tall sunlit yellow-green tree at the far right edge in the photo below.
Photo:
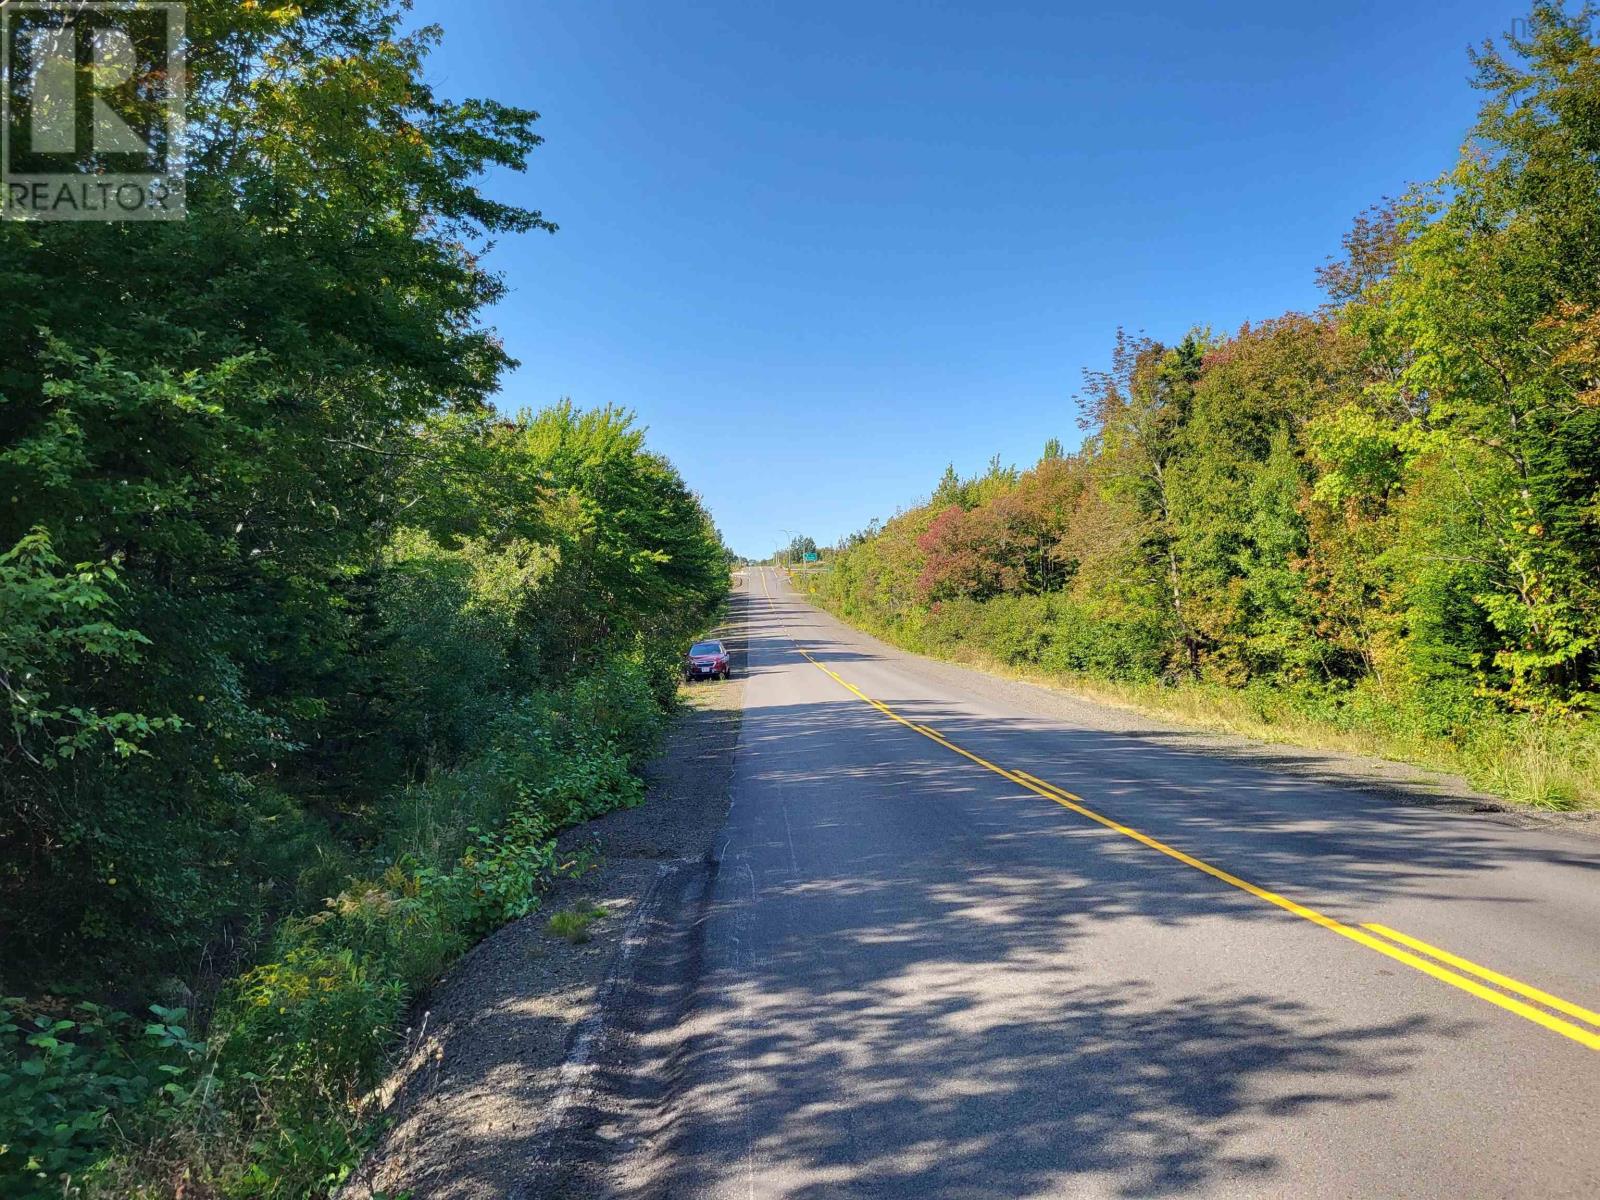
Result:
<svg viewBox="0 0 1600 1200"><path fill-rule="evenodd" d="M1432 630L1419 646L1459 648L1443 658L1514 704L1560 710L1594 702L1600 664L1594 13L1539 3L1526 37L1474 62L1488 94L1474 144L1402 205L1405 245L1357 314L1403 363L1382 398L1405 413L1419 507L1405 550L1408 606Z"/></svg>

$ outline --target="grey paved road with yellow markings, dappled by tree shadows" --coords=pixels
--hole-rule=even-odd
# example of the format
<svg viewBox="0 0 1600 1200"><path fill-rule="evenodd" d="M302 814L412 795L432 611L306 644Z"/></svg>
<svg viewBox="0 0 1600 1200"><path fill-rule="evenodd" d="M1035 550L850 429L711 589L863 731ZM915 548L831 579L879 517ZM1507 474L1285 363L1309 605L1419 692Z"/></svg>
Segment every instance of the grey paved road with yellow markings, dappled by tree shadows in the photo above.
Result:
<svg viewBox="0 0 1600 1200"><path fill-rule="evenodd" d="M650 1190L1600 1195L1600 842L1094 730L747 594Z"/></svg>

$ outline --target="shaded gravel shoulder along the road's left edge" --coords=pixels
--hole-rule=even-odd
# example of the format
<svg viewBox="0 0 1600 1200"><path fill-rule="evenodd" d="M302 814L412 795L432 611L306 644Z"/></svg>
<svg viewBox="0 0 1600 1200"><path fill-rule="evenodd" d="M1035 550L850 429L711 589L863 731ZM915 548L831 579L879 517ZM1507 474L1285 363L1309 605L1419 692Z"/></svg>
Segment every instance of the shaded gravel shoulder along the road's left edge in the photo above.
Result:
<svg viewBox="0 0 1600 1200"><path fill-rule="evenodd" d="M728 814L744 714L739 597L722 637L734 677L685 688L685 712L646 768L645 805L562 837L563 851L594 853L598 867L480 942L418 1010L410 1050L382 1090L389 1126L346 1186L347 1200L587 1190L587 1163L608 1157L595 1154L595 1142L629 1125L608 1126L592 1094L594 1064L622 1037L613 1010L630 986L651 914L710 869L712 840ZM587 942L547 928L555 914L594 909L603 915ZM571 1152L578 1142L582 1154Z"/></svg>

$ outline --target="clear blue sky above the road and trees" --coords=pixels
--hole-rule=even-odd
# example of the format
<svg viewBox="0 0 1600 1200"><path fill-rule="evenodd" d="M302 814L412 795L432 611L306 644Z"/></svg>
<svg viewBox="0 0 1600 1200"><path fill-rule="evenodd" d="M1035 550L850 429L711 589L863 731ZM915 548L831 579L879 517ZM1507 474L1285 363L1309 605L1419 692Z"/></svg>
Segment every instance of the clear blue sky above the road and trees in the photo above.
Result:
<svg viewBox="0 0 1600 1200"><path fill-rule="evenodd" d="M1496 3L418 0L445 94L542 114L491 190L502 408L635 410L744 554L1078 440L1118 325L1309 309L1454 157Z"/></svg>

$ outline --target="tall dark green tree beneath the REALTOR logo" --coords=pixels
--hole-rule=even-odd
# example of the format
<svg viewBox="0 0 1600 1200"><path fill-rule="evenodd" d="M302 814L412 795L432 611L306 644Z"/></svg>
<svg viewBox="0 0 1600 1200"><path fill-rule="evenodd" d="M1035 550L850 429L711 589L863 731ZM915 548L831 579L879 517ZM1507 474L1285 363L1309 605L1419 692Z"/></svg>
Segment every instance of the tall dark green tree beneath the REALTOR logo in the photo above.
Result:
<svg viewBox="0 0 1600 1200"><path fill-rule="evenodd" d="M475 246L549 227L477 186L523 165L536 114L435 96L438 30L402 16L190 3L189 219L0 229L27 298L0 310L0 547L38 530L139 638L91 661L38 648L32 677L61 710L150 730L134 757L101 726L61 766L8 760L8 974L187 957L251 890L240 834L282 827L286 787L342 819L298 763L362 686L363 571L413 430L483 403L507 365L477 320L502 285Z"/></svg>

